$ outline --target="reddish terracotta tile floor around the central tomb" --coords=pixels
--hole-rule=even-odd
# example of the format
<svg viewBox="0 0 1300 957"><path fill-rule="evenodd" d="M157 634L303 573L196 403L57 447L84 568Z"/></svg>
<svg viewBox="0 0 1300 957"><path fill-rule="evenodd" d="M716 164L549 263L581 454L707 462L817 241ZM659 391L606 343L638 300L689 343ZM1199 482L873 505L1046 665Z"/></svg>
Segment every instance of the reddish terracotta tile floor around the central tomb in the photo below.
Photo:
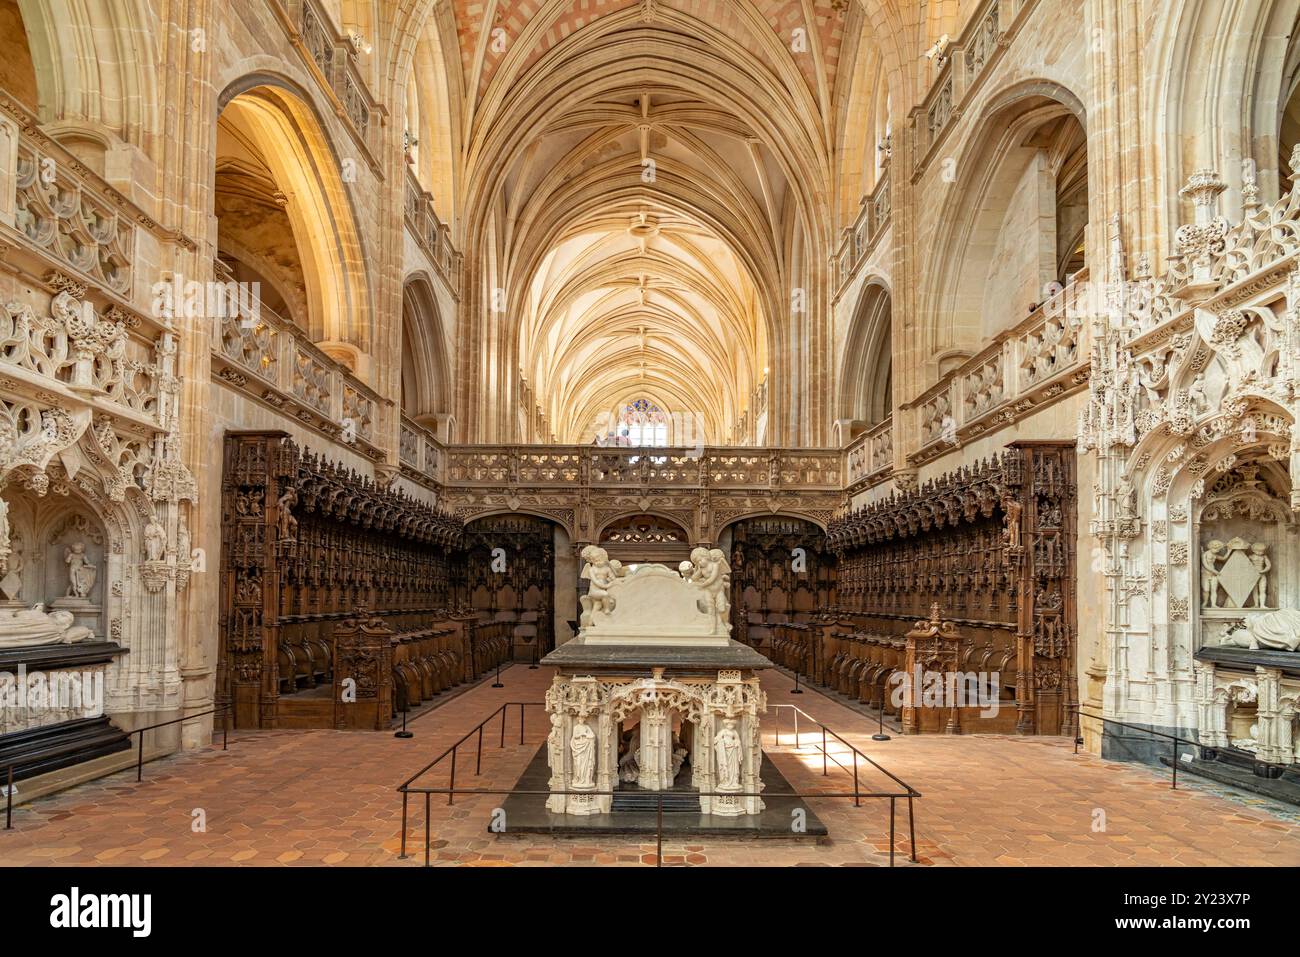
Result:
<svg viewBox="0 0 1300 957"><path fill-rule="evenodd" d="M490 714L502 701L541 701L549 670L516 666L504 689L490 683L450 700L411 727L389 733L239 732L220 748L165 758L61 794L20 806L14 830L0 831L0 865L404 865L422 863L422 801L412 798L410 853L398 859L402 804L394 787ZM1167 775L1075 755L1063 739L1000 736L900 737L875 742L872 722L815 690L792 696L789 679L764 677L770 703L798 703L864 753L916 787L916 839L924 865L1300 865L1300 820L1266 802L1212 788L1169 789ZM771 715L770 715L771 719ZM528 709L519 742L511 713L506 748L499 724L485 732L482 775L474 778L473 739L462 750L458 780L510 787L546 731L541 709ZM852 789L844 772L822 776L807 731L796 750L789 718L783 746L764 745L790 783L806 791ZM820 733L816 740L820 741ZM446 772L430 783L445 783ZM881 785L862 776L864 788ZM644 865L654 843L584 841L490 835L500 798L433 800L432 850L437 865ZM831 831L824 844L794 840L664 843L671 865L881 865L888 861L888 804L816 800ZM898 807L900 865L906 817ZM196 820L202 814L205 827ZM1104 827L1101 822L1104 818ZM1096 828L1096 830L1095 830Z"/></svg>

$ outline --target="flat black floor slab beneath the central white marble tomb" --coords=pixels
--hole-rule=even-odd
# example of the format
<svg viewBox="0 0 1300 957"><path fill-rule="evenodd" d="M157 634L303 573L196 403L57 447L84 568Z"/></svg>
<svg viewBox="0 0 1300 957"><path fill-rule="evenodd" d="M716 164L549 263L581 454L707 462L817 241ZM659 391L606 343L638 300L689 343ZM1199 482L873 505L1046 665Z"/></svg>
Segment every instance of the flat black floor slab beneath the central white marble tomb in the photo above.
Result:
<svg viewBox="0 0 1300 957"><path fill-rule="evenodd" d="M543 744L537 755L529 762L516 787L520 791L546 791L551 772L546 766L546 745ZM793 791L776 765L764 754L759 776L768 792L783 793ZM644 793L644 792L642 792ZM828 831L822 819L814 813L802 798L763 796L767 807L762 814L741 814L738 817L722 817L716 814L701 814L676 810L664 810L663 832L673 837L710 836L710 837L794 837L806 840L822 840ZM698 805L697 805L698 807ZM794 809L802 809L803 831L792 828L796 817ZM502 809L506 811L504 833L550 833L559 836L590 836L590 835L653 835L658 827L658 813L651 810L619 810L610 814L554 814L546 810L546 794L510 794ZM491 830L491 820L488 830Z"/></svg>

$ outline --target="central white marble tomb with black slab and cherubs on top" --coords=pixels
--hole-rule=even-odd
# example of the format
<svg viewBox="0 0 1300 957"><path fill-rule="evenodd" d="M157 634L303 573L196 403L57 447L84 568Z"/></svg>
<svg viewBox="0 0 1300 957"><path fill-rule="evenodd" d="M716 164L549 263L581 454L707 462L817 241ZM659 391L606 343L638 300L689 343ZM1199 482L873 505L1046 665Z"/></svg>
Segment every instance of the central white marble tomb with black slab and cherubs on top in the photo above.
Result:
<svg viewBox="0 0 1300 957"><path fill-rule="evenodd" d="M698 547L677 571L628 571L593 545L582 559L578 635L543 659L558 668L547 810L607 814L619 789L689 788L705 814L757 815L770 662L729 637L723 553Z"/></svg>

